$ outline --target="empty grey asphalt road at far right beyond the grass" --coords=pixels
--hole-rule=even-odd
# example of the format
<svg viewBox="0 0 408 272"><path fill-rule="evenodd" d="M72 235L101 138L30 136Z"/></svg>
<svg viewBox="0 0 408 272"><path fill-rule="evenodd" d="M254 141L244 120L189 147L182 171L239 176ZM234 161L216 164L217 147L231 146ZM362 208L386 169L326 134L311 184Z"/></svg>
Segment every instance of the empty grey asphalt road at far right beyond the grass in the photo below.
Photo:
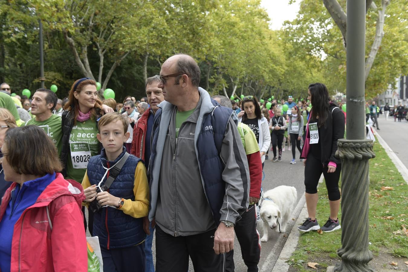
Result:
<svg viewBox="0 0 408 272"><path fill-rule="evenodd" d="M394 117L385 119L384 114L378 118L378 134L386 141L388 146L394 151L395 155L408 166L408 122L404 119L401 122L394 122Z"/></svg>

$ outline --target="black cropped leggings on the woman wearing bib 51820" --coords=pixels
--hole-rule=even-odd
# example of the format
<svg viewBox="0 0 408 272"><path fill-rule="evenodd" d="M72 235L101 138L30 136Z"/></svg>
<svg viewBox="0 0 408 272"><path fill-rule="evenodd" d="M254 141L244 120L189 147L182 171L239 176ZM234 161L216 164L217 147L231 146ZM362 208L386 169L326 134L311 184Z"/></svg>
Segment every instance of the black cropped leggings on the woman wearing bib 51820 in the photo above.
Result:
<svg viewBox="0 0 408 272"><path fill-rule="evenodd" d="M305 166L305 187L308 194L317 193L317 184L319 183L320 176L324 176L326 182L326 188L330 201L336 201L340 199L339 191L339 178L341 172L341 164L337 164L336 171L334 173L328 173L328 166L322 166L320 159L315 158L313 155L308 155Z"/></svg>

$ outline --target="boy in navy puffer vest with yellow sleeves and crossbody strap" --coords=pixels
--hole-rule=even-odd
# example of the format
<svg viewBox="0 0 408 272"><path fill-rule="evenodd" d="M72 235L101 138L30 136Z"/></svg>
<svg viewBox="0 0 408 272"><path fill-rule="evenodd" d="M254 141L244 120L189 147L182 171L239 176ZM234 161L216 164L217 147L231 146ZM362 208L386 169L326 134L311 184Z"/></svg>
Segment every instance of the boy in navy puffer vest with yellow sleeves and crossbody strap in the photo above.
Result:
<svg viewBox="0 0 408 272"><path fill-rule="evenodd" d="M89 160L82 181L86 205L96 201L101 207L94 213L93 235L99 237L104 271L145 270L146 234L142 217L149 210L149 185L143 161L133 155L124 157L128 126L129 122L120 113L108 113L100 118L97 138L103 148L100 155ZM123 163L122 159L126 161L106 189L109 173Z"/></svg>

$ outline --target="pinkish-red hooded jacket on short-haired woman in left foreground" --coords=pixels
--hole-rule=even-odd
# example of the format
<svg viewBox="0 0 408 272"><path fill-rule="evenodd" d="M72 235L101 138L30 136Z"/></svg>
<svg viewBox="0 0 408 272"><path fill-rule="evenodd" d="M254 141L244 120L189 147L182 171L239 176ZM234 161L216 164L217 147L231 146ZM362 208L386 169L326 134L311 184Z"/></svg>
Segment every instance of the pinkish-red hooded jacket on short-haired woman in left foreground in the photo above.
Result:
<svg viewBox="0 0 408 272"><path fill-rule="evenodd" d="M0 221L15 187L16 183L13 183L4 193ZM11 272L88 271L84 218L81 212L84 199L84 192L78 182L67 181L57 173L34 205L24 210L14 225Z"/></svg>

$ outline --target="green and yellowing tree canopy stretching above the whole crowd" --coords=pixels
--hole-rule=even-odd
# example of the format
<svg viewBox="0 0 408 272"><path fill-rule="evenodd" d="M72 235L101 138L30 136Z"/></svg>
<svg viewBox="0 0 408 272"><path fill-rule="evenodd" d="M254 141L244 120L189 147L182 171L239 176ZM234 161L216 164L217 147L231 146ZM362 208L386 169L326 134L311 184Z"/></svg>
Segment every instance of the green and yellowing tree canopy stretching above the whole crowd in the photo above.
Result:
<svg viewBox="0 0 408 272"><path fill-rule="evenodd" d="M303 0L297 19L274 31L259 0L1 1L0 81L16 93L40 87L41 20L45 85L56 84L58 97L84 76L113 89L118 101L142 97L146 77L175 53L197 60L200 86L213 95L306 98L312 82L344 91L343 36L324 2ZM343 9L345 2L339 2ZM373 3L367 52L381 9L381 0ZM386 7L384 37L366 80L370 96L407 72L406 6L407 0L392 0Z"/></svg>

